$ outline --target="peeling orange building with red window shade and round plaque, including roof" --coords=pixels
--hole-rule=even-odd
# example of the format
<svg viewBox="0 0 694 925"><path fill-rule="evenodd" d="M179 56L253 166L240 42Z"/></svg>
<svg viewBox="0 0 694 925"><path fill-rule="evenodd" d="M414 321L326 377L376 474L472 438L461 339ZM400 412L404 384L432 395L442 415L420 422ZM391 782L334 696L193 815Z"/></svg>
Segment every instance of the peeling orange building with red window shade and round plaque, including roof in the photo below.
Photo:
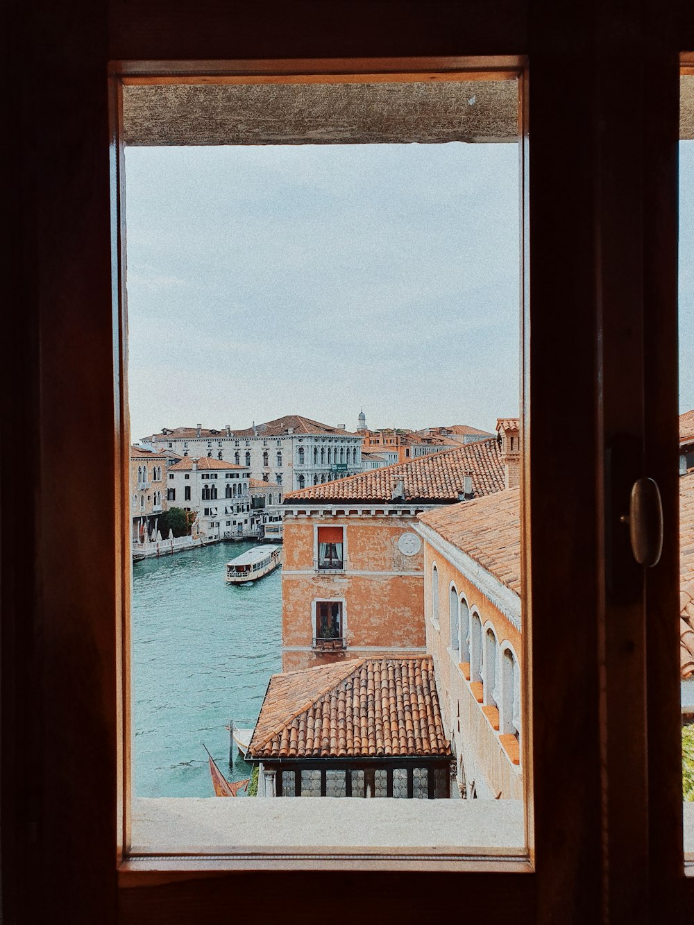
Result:
<svg viewBox="0 0 694 925"><path fill-rule="evenodd" d="M423 654L417 515L503 487L491 438L285 495L283 670Z"/></svg>

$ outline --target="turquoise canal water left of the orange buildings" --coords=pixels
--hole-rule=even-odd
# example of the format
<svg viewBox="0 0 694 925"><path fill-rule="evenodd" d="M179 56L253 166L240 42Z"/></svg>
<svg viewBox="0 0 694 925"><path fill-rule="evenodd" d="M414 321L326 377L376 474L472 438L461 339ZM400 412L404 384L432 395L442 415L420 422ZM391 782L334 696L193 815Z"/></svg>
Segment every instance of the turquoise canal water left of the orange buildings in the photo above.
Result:
<svg viewBox="0 0 694 925"><path fill-rule="evenodd" d="M214 796L203 743L231 781L229 720L252 728L281 671L281 570L228 586L229 559L254 543L218 543L133 564L135 796Z"/></svg>

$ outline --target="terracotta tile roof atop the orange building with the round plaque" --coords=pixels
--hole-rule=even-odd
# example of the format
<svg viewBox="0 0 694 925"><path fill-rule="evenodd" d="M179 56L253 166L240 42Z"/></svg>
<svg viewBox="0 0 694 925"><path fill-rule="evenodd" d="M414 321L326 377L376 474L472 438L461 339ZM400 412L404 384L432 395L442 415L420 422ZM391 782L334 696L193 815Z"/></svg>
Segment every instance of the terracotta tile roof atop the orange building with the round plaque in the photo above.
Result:
<svg viewBox="0 0 694 925"><path fill-rule="evenodd" d="M390 501L393 487L402 481L405 501L445 503L458 500L465 475L472 475L477 496L502 490L504 472L496 438L458 444L455 450L431 453L411 462L369 469L359 475L292 491L284 500Z"/></svg>

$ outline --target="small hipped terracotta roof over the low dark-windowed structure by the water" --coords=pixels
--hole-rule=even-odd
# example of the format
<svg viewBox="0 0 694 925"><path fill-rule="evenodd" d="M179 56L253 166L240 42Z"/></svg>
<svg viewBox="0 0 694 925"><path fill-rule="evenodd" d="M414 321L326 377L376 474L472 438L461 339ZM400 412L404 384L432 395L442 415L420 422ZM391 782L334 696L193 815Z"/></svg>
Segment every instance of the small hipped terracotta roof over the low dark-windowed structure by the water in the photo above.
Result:
<svg viewBox="0 0 694 925"><path fill-rule="evenodd" d="M249 754L447 757L430 656L357 659L274 674Z"/></svg>

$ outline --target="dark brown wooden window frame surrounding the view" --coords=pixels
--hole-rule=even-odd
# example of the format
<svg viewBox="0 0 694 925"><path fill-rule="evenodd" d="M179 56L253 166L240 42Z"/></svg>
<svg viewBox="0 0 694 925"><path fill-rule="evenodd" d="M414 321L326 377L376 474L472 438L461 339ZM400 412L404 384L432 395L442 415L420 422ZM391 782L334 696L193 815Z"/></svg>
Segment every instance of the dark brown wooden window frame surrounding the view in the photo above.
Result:
<svg viewBox="0 0 694 925"><path fill-rule="evenodd" d="M113 485L109 506L119 512L129 484L127 422L113 388L122 369L112 305L122 280L112 276L111 234L116 251L122 241L107 194L106 62L305 56L342 67L344 58L432 62L452 53L530 61L524 260L532 326L523 375L533 388L524 478L543 488L524 502L533 872L490 873L471 862L454 874L421 861L416 874L362 874L353 903L331 906L330 917L378 910L392 920L430 918L432 897L441 915L457 914L465 895L466 914L489 919L492 877L499 920L684 918L694 882L677 841L676 541L666 533L663 560L635 602L608 597L603 461L612 438L636 439L638 464L661 486L666 524L676 523L676 85L678 54L694 49L694 13L684 0L605 0L595 9L573 0L434 0L426 9L378 0L367 15L353 4L325 9L270 0L257 10L211 4L201 16L183 0L31 0L10 11L8 68L22 80L7 101L19 143L6 152L15 231L6 283L21 311L1 370L3 394L12 396L3 432L34 425L23 465L35 488L18 497L3 468L6 919L55 920L61 910L72 923L152 925L226 914L240 895L291 891L300 898L285 918L311 922L324 917L326 895L357 884L348 871L324 870L313 898L310 870L118 875L118 769L129 746L118 735L117 666L128 628L115 617L130 563L115 540L93 544L78 528L92 514L85 499ZM116 158L113 143L110 150ZM562 419L574 438L568 470L556 464ZM82 473L85 433L94 464ZM60 542L66 532L69 549ZM647 673L658 680L648 688ZM48 741L55 762L45 760Z"/></svg>

